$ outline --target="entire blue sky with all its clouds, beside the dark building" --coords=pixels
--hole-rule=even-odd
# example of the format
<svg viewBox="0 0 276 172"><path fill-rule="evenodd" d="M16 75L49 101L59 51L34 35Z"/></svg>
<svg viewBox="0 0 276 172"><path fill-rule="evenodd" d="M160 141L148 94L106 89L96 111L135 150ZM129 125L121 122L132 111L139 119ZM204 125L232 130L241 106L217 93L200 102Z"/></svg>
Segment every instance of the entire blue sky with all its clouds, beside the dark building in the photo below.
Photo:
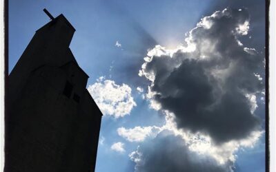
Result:
<svg viewBox="0 0 276 172"><path fill-rule="evenodd" d="M9 1L9 72L50 20L103 113L95 171L265 171L265 2Z"/></svg>

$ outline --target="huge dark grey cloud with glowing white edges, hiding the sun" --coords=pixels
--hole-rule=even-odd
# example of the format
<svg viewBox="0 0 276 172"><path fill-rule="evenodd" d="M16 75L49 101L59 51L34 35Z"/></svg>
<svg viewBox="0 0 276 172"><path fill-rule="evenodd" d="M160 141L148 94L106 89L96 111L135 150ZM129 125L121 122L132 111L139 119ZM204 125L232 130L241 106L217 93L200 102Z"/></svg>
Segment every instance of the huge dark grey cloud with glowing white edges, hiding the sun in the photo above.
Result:
<svg viewBox="0 0 276 172"><path fill-rule="evenodd" d="M152 98L175 114L177 127L208 134L217 143L246 138L258 130L254 94L264 89L257 72L264 56L239 38L248 33L245 9L205 17L186 40L195 51L150 56L142 73L151 78ZM156 47L156 49L160 49Z"/></svg>

